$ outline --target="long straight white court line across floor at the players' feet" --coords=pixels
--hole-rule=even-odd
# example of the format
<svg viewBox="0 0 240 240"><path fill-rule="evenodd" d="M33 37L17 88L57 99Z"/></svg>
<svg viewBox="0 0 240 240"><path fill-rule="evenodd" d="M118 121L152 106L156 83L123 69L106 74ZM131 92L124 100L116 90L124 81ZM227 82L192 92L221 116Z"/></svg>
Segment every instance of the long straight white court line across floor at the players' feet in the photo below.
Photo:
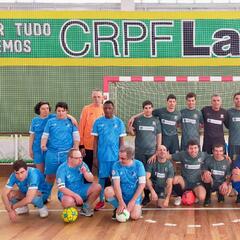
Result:
<svg viewBox="0 0 240 240"><path fill-rule="evenodd" d="M48 209L49 212L61 212L63 209ZM101 209L98 212L108 212L112 211L113 209ZM213 208L142 208L143 211L216 211L216 210L223 210L223 211L230 211L230 210L240 210L240 207L232 208L232 207L213 207ZM29 210L29 212L37 212L37 209ZM5 209L0 209L0 213L6 213L7 211Z"/></svg>

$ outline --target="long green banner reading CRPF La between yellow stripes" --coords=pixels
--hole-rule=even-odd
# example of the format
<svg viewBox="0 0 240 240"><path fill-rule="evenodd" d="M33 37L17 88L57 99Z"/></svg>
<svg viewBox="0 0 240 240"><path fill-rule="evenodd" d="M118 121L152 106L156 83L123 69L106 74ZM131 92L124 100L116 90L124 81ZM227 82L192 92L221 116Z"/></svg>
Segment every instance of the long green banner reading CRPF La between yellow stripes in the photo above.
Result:
<svg viewBox="0 0 240 240"><path fill-rule="evenodd" d="M0 57L239 57L240 19L1 19Z"/></svg>

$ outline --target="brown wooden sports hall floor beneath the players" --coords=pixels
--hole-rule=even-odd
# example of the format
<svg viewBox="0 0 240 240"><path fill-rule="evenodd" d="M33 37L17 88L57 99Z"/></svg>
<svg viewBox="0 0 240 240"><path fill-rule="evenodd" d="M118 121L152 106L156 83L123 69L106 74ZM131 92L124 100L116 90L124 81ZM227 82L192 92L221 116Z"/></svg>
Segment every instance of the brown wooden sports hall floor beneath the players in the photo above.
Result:
<svg viewBox="0 0 240 240"><path fill-rule="evenodd" d="M0 178L0 188L6 178ZM93 217L80 216L75 223L64 224L60 218L61 206L56 198L48 204L49 217L40 219L34 208L28 215L19 216L12 224L0 201L0 239L240 239L240 205L235 198L227 198L226 203L216 203L203 208L199 204L192 207L174 207L156 209L149 205L144 209L143 217L138 221L118 223L111 220L112 209L107 206L96 212Z"/></svg>

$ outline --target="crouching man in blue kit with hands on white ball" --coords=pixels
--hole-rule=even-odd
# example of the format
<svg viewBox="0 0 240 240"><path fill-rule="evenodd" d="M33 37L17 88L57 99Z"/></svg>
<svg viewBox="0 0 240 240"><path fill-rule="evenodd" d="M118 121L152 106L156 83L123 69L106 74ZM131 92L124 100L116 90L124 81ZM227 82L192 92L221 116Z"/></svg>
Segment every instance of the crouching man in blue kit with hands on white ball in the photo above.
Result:
<svg viewBox="0 0 240 240"><path fill-rule="evenodd" d="M105 189L106 200L114 207L112 219L124 209L130 212L131 219L141 217L141 195L146 184L146 173L142 162L133 157L131 147L121 146L119 161L113 165L113 185Z"/></svg>

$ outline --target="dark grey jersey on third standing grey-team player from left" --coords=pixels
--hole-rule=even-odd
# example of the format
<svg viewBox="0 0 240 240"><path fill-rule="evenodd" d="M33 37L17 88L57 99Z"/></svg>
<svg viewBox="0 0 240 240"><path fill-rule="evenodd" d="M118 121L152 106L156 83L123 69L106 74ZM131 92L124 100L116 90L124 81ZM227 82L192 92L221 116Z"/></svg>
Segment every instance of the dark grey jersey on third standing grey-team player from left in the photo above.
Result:
<svg viewBox="0 0 240 240"><path fill-rule="evenodd" d="M181 111L182 139L181 149L186 150L189 140L198 140L200 143L199 126L203 124L202 113L197 109L182 109Z"/></svg>

